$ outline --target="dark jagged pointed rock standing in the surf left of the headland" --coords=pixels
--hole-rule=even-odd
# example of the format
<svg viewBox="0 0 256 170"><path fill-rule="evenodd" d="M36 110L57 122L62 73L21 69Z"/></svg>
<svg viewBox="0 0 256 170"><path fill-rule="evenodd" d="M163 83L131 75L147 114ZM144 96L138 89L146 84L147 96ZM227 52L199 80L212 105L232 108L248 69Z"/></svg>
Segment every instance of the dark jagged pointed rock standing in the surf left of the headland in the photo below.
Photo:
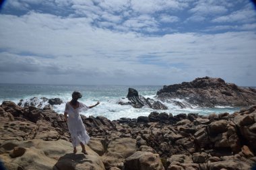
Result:
<svg viewBox="0 0 256 170"><path fill-rule="evenodd" d="M152 108L154 110L167 110L167 106L161 103L160 101L154 101L154 99L145 98L133 88L129 88L127 98L129 102L119 101L121 105L132 105L133 108L142 108L143 106Z"/></svg>

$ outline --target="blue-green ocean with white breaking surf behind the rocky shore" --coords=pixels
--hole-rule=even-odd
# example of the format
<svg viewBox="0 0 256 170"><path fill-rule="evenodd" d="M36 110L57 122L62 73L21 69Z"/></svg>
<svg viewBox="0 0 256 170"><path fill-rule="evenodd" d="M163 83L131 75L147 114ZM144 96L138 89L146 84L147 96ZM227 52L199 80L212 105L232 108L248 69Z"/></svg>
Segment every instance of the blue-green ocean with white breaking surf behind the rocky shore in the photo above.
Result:
<svg viewBox="0 0 256 170"><path fill-rule="evenodd" d="M71 100L73 91L80 91L83 95L80 102L86 105L94 105L100 101L100 105L81 114L85 116L104 116L109 120L117 120L119 118L137 118L138 116L148 116L150 112L166 112L173 115L198 113L207 116L211 113L232 114L240 108L232 108L230 106L221 106L216 108L199 108L196 105L193 108L180 108L172 103L164 103L168 110L153 110L150 108L133 108L131 105L119 105L119 101L128 101L126 95L129 87L136 89L139 95L155 99L156 92L162 86L141 85L26 85L26 84L0 84L0 103L3 101L13 101L16 104L20 99L31 99L33 97L46 97L48 99L60 98L64 102ZM179 99L182 102L182 99ZM46 105L47 103L44 103ZM65 103L54 105L53 110L59 114L63 114Z"/></svg>

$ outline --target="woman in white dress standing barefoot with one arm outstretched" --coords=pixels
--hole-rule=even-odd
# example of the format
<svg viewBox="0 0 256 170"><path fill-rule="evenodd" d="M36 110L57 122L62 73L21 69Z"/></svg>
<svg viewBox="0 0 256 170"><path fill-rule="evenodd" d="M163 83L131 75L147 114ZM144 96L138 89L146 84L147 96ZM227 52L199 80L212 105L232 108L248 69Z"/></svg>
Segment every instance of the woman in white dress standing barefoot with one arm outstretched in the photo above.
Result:
<svg viewBox="0 0 256 170"><path fill-rule="evenodd" d="M88 155L84 144L88 144L90 136L86 132L86 128L84 127L84 123L81 116L79 115L79 112L94 108L100 102L98 101L95 105L88 107L83 103L77 101L77 99L81 97L82 94L78 91L74 91L72 93L71 101L66 103L64 116L65 121L67 122L67 126L69 128L69 132L71 134L71 141L74 148L73 153L77 153L76 146L80 144L82 146L82 153ZM67 115L69 115L68 118Z"/></svg>

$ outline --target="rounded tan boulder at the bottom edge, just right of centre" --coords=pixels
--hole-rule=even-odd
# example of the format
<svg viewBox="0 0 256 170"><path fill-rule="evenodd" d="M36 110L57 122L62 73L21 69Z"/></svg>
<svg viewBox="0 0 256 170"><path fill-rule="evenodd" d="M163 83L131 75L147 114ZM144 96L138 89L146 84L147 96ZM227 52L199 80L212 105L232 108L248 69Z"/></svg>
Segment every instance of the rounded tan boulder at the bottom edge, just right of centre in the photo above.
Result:
<svg viewBox="0 0 256 170"><path fill-rule="evenodd" d="M158 154L137 151L125 159L126 170L164 170Z"/></svg>

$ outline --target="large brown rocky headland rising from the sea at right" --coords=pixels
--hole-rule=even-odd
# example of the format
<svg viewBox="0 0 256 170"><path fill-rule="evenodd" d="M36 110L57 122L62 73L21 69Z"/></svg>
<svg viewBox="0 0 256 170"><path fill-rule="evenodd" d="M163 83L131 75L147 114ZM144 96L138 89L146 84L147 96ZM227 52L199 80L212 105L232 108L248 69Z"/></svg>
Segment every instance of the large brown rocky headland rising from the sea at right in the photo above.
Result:
<svg viewBox="0 0 256 170"><path fill-rule="evenodd" d="M162 101L184 99L185 103L201 107L216 105L246 107L256 104L256 89L238 87L232 83L225 83L223 79L211 77L164 86L157 92L157 96Z"/></svg>

